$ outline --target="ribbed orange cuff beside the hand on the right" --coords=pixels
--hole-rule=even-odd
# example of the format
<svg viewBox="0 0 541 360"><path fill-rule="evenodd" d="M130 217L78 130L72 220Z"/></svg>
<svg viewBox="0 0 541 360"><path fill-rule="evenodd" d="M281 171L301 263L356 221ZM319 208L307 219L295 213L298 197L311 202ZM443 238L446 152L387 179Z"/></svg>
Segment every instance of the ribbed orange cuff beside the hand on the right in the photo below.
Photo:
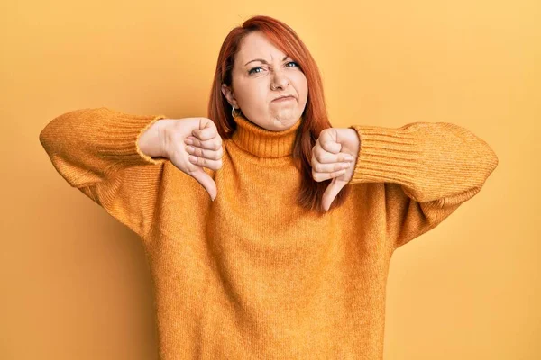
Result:
<svg viewBox="0 0 541 360"><path fill-rule="evenodd" d="M399 129L353 125L361 145L348 184L398 183L413 187L421 148L414 133L407 127Z"/></svg>

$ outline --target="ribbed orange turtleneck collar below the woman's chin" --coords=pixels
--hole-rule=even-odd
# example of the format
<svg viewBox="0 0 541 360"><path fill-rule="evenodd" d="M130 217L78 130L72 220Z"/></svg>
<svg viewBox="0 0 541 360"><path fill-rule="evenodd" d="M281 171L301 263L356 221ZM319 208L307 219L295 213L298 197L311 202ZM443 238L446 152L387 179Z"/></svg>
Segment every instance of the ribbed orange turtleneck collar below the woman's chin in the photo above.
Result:
<svg viewBox="0 0 541 360"><path fill-rule="evenodd" d="M293 145L302 117L287 130L271 131L246 119L241 113L234 117L237 124L231 137L234 143L256 157L286 157L293 153Z"/></svg>

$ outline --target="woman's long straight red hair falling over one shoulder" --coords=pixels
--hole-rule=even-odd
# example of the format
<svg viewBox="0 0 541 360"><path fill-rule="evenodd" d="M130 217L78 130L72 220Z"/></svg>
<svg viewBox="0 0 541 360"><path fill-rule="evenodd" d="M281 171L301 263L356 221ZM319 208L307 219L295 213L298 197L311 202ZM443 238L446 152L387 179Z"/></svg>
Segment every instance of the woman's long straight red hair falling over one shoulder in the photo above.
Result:
<svg viewBox="0 0 541 360"><path fill-rule="evenodd" d="M310 55L297 33L287 24L270 16L253 16L242 26L235 27L227 34L218 55L215 76L208 102L208 118L215 121L218 133L223 139L229 139L236 130L236 122L231 116L231 105L222 94L222 84L232 85L234 58L243 38L252 31L261 31L278 49L297 62L307 77L308 96L302 122L297 130L292 157L301 172L302 180L297 196L298 204L308 210L323 214L321 198L332 179L316 182L312 178L312 148L322 130L331 128L326 112L323 85L316 61ZM349 193L349 185L336 195L329 210L339 207Z"/></svg>

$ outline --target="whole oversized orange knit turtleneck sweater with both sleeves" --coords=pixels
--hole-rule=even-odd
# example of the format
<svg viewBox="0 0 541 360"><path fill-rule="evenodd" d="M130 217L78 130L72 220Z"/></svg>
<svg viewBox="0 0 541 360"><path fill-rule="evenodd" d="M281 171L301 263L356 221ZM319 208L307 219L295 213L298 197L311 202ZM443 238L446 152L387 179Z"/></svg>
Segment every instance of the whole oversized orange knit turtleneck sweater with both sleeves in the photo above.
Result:
<svg viewBox="0 0 541 360"><path fill-rule="evenodd" d="M280 132L237 118L215 202L138 136L165 115L67 112L40 141L71 185L142 238L156 286L160 356L381 359L393 251L479 193L498 157L445 122L353 125L352 193L317 217L295 202L298 122Z"/></svg>

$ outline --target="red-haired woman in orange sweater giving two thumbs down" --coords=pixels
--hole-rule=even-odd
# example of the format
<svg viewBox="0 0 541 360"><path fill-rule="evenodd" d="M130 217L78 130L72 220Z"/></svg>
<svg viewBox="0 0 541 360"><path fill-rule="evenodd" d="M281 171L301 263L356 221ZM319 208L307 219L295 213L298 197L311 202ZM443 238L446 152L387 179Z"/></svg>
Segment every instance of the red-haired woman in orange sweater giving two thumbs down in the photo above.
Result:
<svg viewBox="0 0 541 360"><path fill-rule="evenodd" d="M498 165L452 123L333 128L321 84L298 35L255 16L225 39L209 118L82 109L41 131L141 236L162 359L381 359L394 250Z"/></svg>

